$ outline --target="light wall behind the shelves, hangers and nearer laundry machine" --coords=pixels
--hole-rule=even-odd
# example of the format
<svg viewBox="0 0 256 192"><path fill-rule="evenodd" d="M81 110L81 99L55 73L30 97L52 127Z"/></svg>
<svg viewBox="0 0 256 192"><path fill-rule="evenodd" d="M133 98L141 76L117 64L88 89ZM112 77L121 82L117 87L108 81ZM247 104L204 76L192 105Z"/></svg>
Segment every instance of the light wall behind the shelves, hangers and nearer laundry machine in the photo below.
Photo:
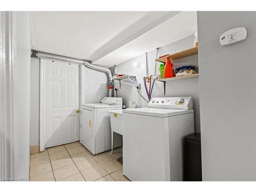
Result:
<svg viewBox="0 0 256 192"><path fill-rule="evenodd" d="M194 35L178 40L172 44L161 47L158 51L158 56L178 52L184 49L193 47ZM155 72L155 59L156 50L148 53L148 72L154 74ZM141 62L139 69L133 65L133 62ZM184 65L198 66L198 55L189 56L179 60L173 61L175 67ZM139 83L141 83L140 92L147 99L145 88L143 84L143 77L146 76L146 62L145 55L141 55L129 61L123 62L117 66L118 73L123 71L129 72L131 75L135 75ZM156 74L159 74L159 63L157 63ZM118 89L118 97L123 98L123 104L128 107L129 101L135 101L140 107L146 107L147 103L137 93L136 88L121 84L119 89L119 81L115 80L115 88ZM195 131L200 132L200 110L199 110L199 82L198 78L183 79L177 81L166 82L166 94L163 92L163 83L155 82L152 97L173 97L173 96L192 96L195 110Z"/></svg>

